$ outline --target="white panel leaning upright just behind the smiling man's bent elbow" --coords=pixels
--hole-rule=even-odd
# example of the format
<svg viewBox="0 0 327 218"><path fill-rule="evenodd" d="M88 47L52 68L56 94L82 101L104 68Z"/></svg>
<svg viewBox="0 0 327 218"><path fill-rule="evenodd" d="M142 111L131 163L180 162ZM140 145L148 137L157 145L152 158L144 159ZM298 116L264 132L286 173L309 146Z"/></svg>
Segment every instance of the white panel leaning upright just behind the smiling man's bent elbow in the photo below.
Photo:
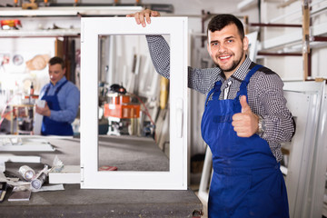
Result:
<svg viewBox="0 0 327 218"><path fill-rule="evenodd" d="M315 164L322 85L315 82L289 82L284 85L287 106L296 121L286 176L290 217L294 218L309 217L304 212L310 210L312 201L310 183Z"/></svg>

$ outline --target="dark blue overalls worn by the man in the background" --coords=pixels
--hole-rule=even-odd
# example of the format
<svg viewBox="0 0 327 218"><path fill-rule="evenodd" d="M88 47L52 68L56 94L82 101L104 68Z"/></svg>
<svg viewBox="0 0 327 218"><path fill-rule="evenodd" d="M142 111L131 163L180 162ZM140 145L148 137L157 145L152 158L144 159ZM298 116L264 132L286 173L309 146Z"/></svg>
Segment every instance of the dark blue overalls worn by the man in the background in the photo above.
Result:
<svg viewBox="0 0 327 218"><path fill-rule="evenodd" d="M60 105L58 101L57 94L59 93L60 89L66 84L68 80L64 81L63 84L60 84L54 92L54 95L47 95L50 89L50 85L45 90L45 95L42 97L42 100L45 100L47 105L49 106L50 110L53 111L60 111ZM68 122L58 122L50 119L47 116L44 116L41 134L48 135L73 135L73 127Z"/></svg>

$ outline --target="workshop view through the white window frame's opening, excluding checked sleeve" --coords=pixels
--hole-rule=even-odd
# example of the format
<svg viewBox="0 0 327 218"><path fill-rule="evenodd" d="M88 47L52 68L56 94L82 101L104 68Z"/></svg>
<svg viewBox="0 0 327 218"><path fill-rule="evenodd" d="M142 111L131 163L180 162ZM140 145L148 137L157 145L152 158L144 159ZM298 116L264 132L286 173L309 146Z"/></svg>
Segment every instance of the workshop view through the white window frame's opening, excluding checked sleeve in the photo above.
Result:
<svg viewBox="0 0 327 218"><path fill-rule="evenodd" d="M99 35L98 45L98 170L169 171L169 81L145 35Z"/></svg>

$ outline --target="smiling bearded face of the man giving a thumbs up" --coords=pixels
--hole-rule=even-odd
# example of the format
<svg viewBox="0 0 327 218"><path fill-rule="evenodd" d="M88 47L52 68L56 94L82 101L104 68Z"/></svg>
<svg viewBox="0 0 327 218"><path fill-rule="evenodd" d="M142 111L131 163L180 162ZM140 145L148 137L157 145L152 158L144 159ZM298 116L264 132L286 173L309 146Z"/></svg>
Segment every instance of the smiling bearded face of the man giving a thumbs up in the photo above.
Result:
<svg viewBox="0 0 327 218"><path fill-rule="evenodd" d="M245 60L248 39L242 40L236 25L226 25L222 30L208 32L207 49L214 64L229 78Z"/></svg>

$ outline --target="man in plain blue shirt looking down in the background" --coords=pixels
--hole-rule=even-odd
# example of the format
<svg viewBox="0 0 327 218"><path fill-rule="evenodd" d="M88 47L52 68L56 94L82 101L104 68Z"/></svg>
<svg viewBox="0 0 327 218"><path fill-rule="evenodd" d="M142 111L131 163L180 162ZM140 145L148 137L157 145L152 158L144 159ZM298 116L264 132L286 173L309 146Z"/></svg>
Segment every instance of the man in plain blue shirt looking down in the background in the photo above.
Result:
<svg viewBox="0 0 327 218"><path fill-rule="evenodd" d="M78 88L66 79L64 60L54 56L49 60L50 83L41 89L39 99L45 107L35 106L37 114L44 115L41 134L73 135L72 123L80 104Z"/></svg>

